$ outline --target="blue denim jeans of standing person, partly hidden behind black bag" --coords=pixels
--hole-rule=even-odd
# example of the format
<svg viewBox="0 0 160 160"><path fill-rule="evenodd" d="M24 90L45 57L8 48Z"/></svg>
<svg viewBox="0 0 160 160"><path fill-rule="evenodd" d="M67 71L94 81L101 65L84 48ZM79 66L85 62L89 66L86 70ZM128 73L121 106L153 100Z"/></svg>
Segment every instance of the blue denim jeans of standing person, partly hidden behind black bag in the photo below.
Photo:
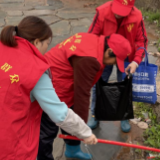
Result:
<svg viewBox="0 0 160 160"><path fill-rule="evenodd" d="M109 77L112 73L112 70L113 70L113 65L105 67L103 74L102 74L102 79L105 82L108 82ZM118 82L122 81L122 72L120 72L118 67L117 67L117 81ZM92 113L92 115L94 115L95 104L96 104L96 85L94 85L92 88L92 100L91 100L91 113Z"/></svg>

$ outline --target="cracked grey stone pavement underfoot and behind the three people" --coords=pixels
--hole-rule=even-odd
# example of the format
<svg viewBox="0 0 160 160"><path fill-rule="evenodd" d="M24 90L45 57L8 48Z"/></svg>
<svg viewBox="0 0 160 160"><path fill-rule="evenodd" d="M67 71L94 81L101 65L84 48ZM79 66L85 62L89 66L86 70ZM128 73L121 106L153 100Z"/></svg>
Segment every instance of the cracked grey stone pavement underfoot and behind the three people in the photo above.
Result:
<svg viewBox="0 0 160 160"><path fill-rule="evenodd" d="M6 25L18 25L25 16L39 16L53 30L54 37L50 49L77 32L86 32L95 14L95 7L104 2L106 0L0 0L0 31ZM156 37L153 33L150 34L151 37ZM156 52L156 48L151 46L150 51ZM155 63L155 61L156 58L150 56L150 62ZM116 80L116 69L110 80ZM121 132L120 122L101 122L94 133L101 139L125 142L129 138L128 134ZM82 148L88 152L83 144ZM93 154L94 160L112 160L120 148L97 144L90 146L89 152ZM63 140L56 139L53 151L55 160L65 160L64 149Z"/></svg>

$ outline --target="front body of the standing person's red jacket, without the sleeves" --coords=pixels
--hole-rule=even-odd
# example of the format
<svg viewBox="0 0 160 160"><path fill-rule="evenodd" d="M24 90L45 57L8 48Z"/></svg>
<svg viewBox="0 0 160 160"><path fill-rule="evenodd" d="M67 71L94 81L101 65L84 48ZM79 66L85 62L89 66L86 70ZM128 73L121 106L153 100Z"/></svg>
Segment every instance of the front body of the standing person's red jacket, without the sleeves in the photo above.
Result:
<svg viewBox="0 0 160 160"><path fill-rule="evenodd" d="M132 47L132 53L129 56L129 61L131 62L134 59L135 51L137 50L136 36L138 27L141 25L141 20L143 19L142 14L136 7L133 7L130 15L123 19L118 29L117 21L111 11L111 5L112 1L107 2L96 9L99 12L99 19L101 22L99 24L101 25L100 28L102 30L101 34L109 36L113 33L118 33L128 39ZM144 30L142 30L142 32L144 32ZM145 32L143 34L145 34Z"/></svg>

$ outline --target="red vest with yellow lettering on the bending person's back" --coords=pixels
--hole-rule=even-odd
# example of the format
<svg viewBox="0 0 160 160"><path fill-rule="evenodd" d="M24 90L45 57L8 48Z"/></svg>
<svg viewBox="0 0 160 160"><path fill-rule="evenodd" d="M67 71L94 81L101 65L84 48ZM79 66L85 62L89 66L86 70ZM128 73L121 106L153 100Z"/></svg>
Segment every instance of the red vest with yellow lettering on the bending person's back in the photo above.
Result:
<svg viewBox="0 0 160 160"><path fill-rule="evenodd" d="M52 82L55 91L62 102L68 107L73 106L74 75L69 62L72 56L95 57L101 65L93 85L100 78L103 71L104 36L88 33L78 33L52 48L45 54L52 72ZM87 72L87 71L86 71Z"/></svg>

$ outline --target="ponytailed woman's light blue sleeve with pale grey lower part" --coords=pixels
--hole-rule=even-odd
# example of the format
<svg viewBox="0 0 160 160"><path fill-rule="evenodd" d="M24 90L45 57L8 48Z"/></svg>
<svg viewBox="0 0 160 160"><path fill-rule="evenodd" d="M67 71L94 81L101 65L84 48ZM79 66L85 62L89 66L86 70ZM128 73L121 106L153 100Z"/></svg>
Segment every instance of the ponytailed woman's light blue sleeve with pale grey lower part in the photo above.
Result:
<svg viewBox="0 0 160 160"><path fill-rule="evenodd" d="M48 74L44 73L31 91L32 101L33 97L51 120L66 132L82 139L92 135L91 129L84 121L59 100Z"/></svg>

